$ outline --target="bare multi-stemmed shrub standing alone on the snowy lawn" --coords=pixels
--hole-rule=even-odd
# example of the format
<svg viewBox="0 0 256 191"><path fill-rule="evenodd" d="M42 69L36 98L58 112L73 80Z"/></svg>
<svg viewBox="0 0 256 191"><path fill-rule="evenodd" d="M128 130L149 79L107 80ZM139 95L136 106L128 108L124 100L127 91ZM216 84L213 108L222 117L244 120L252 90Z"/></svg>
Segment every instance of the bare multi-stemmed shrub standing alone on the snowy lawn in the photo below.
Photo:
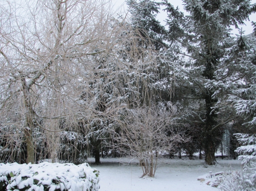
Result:
<svg viewBox="0 0 256 191"><path fill-rule="evenodd" d="M140 160L142 176L154 177L159 156L187 139L168 111L142 106L126 110L123 115L120 131L113 133L115 146L123 154Z"/></svg>

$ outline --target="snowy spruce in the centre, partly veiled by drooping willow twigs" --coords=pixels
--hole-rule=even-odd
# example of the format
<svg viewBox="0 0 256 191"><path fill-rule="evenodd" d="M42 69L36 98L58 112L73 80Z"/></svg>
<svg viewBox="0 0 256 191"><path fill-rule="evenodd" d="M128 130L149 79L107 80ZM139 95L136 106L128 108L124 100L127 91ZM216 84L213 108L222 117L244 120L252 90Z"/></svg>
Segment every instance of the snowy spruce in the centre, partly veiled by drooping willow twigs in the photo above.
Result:
<svg viewBox="0 0 256 191"><path fill-rule="evenodd" d="M95 156L95 163L100 163L100 153L109 146L109 134L120 131L122 123L128 110L134 110L142 104L150 104L149 97L152 96L154 83L157 79L155 65L155 55L157 51L163 49L162 43L164 27L155 19L154 13L158 12L159 3L152 1L134 0L127 1L129 6L130 19L119 18L114 24L122 27L127 26L126 30L116 38L121 41L129 36L129 41L119 47L119 60L109 60L109 54L95 54L95 67L90 75L91 81L87 81L90 94L86 97L92 99L92 107L100 112L108 112L109 105L113 102L119 103L115 110L118 118L113 119L101 115L100 119L90 121L90 128L94 131L90 133L90 148ZM161 41L161 42L159 42ZM88 73L88 72L87 72ZM87 74L89 75L89 74ZM114 146L116 142L113 143Z"/></svg>

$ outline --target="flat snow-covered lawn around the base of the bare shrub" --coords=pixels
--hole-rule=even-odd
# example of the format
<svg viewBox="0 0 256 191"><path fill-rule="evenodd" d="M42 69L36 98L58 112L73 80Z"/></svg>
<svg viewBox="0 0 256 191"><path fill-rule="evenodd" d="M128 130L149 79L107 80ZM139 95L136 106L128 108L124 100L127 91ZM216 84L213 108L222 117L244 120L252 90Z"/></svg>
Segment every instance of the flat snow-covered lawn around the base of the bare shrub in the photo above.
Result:
<svg viewBox="0 0 256 191"><path fill-rule="evenodd" d="M142 169L137 160L129 165L130 159L101 159L101 164L93 164L94 159L88 159L92 168L100 170L100 191L218 191L217 188L197 180L209 171L242 170L238 160L217 159L215 166L206 166L204 160L189 160L162 158L156 170L155 178L140 178Z"/></svg>

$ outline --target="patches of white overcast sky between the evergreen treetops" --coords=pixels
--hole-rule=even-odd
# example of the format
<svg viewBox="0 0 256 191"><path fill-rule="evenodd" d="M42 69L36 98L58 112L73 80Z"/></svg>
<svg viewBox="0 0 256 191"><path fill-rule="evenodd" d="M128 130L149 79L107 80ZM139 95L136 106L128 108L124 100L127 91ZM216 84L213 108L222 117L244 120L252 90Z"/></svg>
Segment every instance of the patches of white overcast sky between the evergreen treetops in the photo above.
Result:
<svg viewBox="0 0 256 191"><path fill-rule="evenodd" d="M120 6L122 6L124 9L127 8L125 0L112 0L113 3L115 3L115 7L118 8ZM182 0L169 0L169 2L171 4L173 4L174 7L179 7L180 10L183 10L183 5L182 5ZM251 3L256 3L256 0L252 0ZM183 10L184 11L184 10ZM165 25L166 23L164 22L164 20L167 19L167 14L166 12L161 12L160 14L158 14L157 19L162 23L162 25ZM243 30L245 31L244 34L250 34L253 30L252 26L251 26L251 21L256 22L256 14L252 14L250 15L250 21L245 22L246 25L242 25L240 26L240 28L242 27ZM238 30L234 28L234 30L232 31L234 34L238 34Z"/></svg>

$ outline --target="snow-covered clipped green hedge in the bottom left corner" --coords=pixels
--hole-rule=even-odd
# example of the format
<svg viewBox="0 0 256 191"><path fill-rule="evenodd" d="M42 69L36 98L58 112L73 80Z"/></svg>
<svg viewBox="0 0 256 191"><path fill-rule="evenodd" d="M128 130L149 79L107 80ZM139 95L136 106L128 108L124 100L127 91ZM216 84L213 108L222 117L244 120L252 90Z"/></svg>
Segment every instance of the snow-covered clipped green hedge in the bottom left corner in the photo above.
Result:
<svg viewBox="0 0 256 191"><path fill-rule="evenodd" d="M0 191L97 191L99 180L88 163L0 164Z"/></svg>

